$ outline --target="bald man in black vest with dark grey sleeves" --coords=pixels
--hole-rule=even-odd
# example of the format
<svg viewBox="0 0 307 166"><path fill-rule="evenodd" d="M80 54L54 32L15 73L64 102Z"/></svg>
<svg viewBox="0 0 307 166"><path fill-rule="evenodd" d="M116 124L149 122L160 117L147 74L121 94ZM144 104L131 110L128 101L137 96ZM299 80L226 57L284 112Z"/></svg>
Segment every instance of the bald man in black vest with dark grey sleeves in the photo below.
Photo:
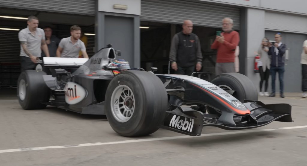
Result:
<svg viewBox="0 0 307 166"><path fill-rule="evenodd" d="M169 52L169 61L176 74L191 76L194 70L200 71L203 55L199 38L192 33L193 23L185 20L183 30L174 35Z"/></svg>

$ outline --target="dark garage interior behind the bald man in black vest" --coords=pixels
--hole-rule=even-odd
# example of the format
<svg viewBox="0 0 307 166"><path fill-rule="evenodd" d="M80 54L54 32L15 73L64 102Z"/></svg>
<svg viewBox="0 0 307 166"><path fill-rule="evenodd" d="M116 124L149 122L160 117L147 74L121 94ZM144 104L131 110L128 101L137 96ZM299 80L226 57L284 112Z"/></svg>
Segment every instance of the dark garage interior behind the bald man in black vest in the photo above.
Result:
<svg viewBox="0 0 307 166"><path fill-rule="evenodd" d="M182 25L141 21L141 67L149 70L157 67L159 74L168 73L169 50L172 37L182 30ZM203 54L202 72L215 73L216 51L210 49L215 39L216 31L220 28L193 26L193 33L200 39ZM174 73L170 69L170 73Z"/></svg>

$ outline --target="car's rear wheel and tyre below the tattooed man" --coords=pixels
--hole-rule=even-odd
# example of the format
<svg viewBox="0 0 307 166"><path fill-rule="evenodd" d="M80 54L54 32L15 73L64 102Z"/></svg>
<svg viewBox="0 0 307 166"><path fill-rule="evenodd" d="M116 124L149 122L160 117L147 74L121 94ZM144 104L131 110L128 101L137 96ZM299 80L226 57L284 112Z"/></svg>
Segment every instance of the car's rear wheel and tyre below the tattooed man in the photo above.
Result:
<svg viewBox="0 0 307 166"><path fill-rule="evenodd" d="M49 101L50 90L45 84L43 71L26 70L18 77L17 97L19 104L25 110L43 109Z"/></svg>

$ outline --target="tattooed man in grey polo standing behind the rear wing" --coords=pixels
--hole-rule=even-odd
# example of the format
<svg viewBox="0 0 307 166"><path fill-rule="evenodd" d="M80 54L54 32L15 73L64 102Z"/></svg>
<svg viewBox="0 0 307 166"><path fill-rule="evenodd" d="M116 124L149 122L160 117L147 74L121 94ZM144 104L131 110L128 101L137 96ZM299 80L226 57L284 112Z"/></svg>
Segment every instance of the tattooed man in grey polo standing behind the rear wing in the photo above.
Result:
<svg viewBox="0 0 307 166"><path fill-rule="evenodd" d="M45 41L45 32L41 28L37 28L38 18L29 16L27 24L27 28L22 29L18 33L18 38L21 43L21 72L24 70L35 70L35 63L37 63L37 57L41 57L41 50L49 57L49 51Z"/></svg>

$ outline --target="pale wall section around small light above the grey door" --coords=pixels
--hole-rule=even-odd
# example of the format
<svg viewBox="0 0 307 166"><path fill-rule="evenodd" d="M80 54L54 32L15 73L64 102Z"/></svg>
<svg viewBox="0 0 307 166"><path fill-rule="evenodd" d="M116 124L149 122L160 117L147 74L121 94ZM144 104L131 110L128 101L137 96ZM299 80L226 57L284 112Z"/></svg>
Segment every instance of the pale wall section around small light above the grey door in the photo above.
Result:
<svg viewBox="0 0 307 166"><path fill-rule="evenodd" d="M126 10L114 9L113 5L127 5ZM141 15L141 0L98 0L98 11Z"/></svg>

